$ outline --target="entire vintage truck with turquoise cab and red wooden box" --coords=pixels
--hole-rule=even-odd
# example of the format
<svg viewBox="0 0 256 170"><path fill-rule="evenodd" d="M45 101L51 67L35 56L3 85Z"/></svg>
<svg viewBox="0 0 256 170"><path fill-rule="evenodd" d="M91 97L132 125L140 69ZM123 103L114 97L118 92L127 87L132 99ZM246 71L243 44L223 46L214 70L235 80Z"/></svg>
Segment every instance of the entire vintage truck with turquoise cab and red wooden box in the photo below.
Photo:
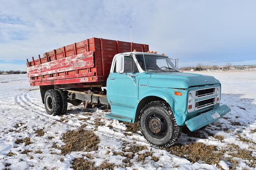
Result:
<svg viewBox="0 0 256 170"><path fill-rule="evenodd" d="M146 44L91 38L27 59L27 74L46 113L64 114L68 102L106 105L106 117L139 122L150 144L169 147L182 126L195 131L230 111L220 106L219 80L180 72L174 61Z"/></svg>

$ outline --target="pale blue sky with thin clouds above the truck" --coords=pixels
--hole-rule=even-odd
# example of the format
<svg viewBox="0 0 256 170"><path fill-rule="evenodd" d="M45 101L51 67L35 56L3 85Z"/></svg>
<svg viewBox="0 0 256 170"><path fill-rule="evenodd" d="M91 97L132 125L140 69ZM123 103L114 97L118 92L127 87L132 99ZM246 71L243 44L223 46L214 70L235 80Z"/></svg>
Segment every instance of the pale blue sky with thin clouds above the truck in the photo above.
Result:
<svg viewBox="0 0 256 170"><path fill-rule="evenodd" d="M255 0L0 0L0 70L91 37L197 63L256 64Z"/></svg>

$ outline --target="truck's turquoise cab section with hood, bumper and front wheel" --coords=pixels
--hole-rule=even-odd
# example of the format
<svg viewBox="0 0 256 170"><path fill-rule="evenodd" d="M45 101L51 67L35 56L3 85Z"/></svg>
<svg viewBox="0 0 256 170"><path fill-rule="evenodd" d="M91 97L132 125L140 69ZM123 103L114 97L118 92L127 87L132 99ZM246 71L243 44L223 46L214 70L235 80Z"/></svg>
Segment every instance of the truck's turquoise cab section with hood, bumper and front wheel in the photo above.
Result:
<svg viewBox="0 0 256 170"><path fill-rule="evenodd" d="M219 80L180 72L167 56L155 53L115 55L107 99L111 113L106 117L139 122L144 138L157 147L173 145L182 126L195 131L230 111L220 106Z"/></svg>

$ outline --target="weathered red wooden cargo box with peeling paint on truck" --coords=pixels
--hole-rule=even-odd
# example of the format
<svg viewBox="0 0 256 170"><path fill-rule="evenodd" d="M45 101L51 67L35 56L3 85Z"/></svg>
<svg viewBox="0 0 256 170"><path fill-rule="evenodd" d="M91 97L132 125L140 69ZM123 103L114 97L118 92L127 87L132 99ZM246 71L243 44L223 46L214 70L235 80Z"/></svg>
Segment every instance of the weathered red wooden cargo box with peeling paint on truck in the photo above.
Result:
<svg viewBox="0 0 256 170"><path fill-rule="evenodd" d="M106 85L114 55L129 52L130 42L91 38L27 59L30 86L83 87ZM132 50L148 51L148 45L132 43ZM69 84L69 85L68 85Z"/></svg>

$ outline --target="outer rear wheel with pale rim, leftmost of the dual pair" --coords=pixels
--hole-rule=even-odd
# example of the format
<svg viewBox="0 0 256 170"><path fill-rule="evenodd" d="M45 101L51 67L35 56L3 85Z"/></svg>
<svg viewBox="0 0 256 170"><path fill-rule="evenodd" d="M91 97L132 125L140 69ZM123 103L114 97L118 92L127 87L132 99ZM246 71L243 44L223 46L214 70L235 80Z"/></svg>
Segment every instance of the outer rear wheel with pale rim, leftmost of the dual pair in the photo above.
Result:
<svg viewBox="0 0 256 170"><path fill-rule="evenodd" d="M44 107L49 115L60 113L60 96L56 90L47 90L44 95Z"/></svg>

